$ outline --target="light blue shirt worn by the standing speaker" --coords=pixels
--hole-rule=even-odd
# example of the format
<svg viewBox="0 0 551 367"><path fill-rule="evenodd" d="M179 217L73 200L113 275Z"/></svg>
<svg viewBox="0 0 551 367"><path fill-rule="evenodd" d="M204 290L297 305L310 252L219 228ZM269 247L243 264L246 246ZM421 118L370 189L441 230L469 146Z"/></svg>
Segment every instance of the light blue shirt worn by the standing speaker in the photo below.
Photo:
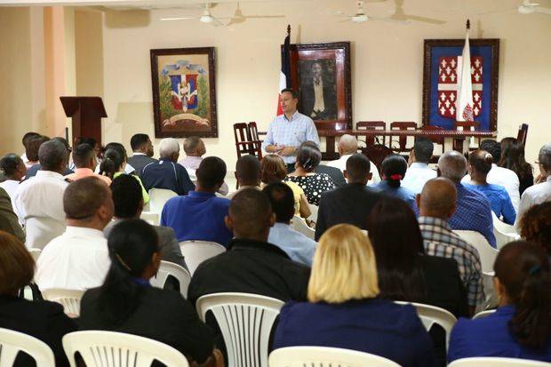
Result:
<svg viewBox="0 0 551 367"><path fill-rule="evenodd" d="M288 120L285 114L275 117L268 127L262 148L266 150L268 145L299 147L305 141L314 141L318 146L320 144L314 121L297 111L291 116L291 120ZM282 156L282 158L285 164L294 164L297 160L297 156Z"/></svg>

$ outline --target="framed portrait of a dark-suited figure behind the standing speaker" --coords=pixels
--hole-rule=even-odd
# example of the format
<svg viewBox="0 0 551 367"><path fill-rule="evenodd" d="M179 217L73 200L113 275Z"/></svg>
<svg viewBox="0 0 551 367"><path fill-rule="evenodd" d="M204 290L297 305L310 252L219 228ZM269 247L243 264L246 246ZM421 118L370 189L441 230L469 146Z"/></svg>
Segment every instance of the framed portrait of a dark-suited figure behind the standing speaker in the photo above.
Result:
<svg viewBox="0 0 551 367"><path fill-rule="evenodd" d="M350 43L291 44L291 85L299 112L317 129L352 128Z"/></svg>

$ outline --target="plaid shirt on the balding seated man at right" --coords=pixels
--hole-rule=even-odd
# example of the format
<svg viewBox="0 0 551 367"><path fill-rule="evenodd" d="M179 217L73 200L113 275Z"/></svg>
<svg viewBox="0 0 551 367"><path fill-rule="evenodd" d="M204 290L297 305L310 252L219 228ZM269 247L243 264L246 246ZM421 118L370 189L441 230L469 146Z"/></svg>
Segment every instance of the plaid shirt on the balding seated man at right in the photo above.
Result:
<svg viewBox="0 0 551 367"><path fill-rule="evenodd" d="M458 262L459 275L467 289L469 306L483 303L483 272L475 247L453 233L443 219L419 217L419 227L427 255L455 259Z"/></svg>

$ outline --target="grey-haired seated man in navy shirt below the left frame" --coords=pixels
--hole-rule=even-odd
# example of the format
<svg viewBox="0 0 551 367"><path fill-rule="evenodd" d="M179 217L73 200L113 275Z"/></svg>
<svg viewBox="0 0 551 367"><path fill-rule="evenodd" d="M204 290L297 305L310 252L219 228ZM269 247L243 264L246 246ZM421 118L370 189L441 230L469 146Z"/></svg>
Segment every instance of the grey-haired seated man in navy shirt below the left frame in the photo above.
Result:
<svg viewBox="0 0 551 367"><path fill-rule="evenodd" d="M188 172L177 164L180 156L180 144L174 138L161 140L159 161L146 165L141 171L141 182L149 191L151 188L165 188L178 195L188 195L195 188L189 180Z"/></svg>

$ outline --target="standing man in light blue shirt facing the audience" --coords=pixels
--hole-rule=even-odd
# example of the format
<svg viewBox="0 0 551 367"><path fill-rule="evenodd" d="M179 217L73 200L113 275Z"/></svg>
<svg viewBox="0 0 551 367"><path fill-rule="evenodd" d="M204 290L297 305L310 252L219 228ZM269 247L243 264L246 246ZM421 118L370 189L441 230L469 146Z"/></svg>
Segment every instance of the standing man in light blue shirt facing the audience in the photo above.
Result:
<svg viewBox="0 0 551 367"><path fill-rule="evenodd" d="M315 130L314 121L297 111L298 92L292 89L283 89L280 103L283 115L275 117L272 124L269 125L262 148L268 153L282 156L283 162L287 164L287 172L293 172L297 160L295 152L299 145L304 141L314 141L319 146L320 140Z"/></svg>

